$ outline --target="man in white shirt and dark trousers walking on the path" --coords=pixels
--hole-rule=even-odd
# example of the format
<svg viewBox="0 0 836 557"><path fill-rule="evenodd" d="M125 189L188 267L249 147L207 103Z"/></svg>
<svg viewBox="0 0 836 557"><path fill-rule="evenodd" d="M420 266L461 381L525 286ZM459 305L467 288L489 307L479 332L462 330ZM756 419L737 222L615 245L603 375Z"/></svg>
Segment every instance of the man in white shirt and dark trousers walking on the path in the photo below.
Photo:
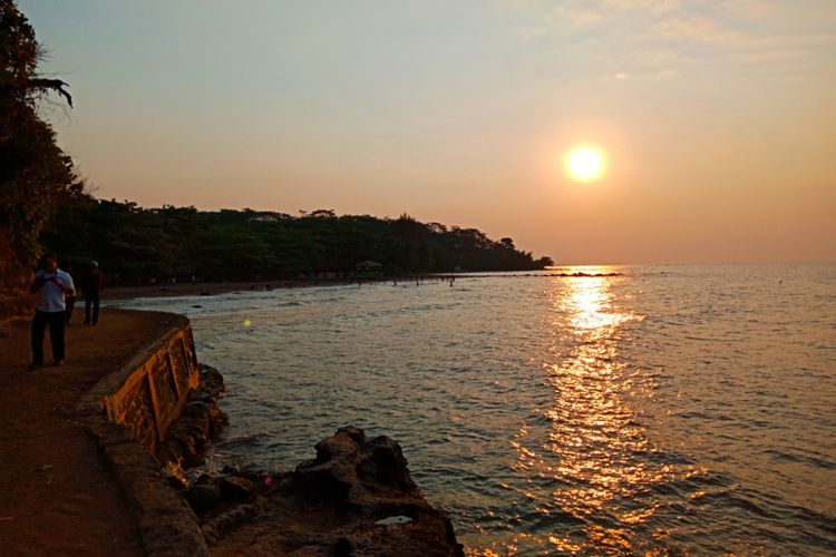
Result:
<svg viewBox="0 0 836 557"><path fill-rule="evenodd" d="M43 256L43 268L35 273L35 317L32 319L32 364L36 370L43 365L43 333L49 325L49 340L52 344L55 365L64 363L65 296L76 293L72 277L58 268L58 257L54 253Z"/></svg>

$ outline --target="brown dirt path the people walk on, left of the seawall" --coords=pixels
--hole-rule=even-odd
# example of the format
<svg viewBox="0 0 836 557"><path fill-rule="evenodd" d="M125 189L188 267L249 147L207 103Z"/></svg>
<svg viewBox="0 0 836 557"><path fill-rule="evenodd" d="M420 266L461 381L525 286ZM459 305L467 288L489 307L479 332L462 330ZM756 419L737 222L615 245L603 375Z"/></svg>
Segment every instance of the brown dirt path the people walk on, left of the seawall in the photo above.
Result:
<svg viewBox="0 0 836 557"><path fill-rule="evenodd" d="M75 413L81 394L168 325L158 313L105 309L67 328L61 368L28 371L29 322L0 322L0 554L143 555L116 481ZM51 361L49 338L46 361Z"/></svg>

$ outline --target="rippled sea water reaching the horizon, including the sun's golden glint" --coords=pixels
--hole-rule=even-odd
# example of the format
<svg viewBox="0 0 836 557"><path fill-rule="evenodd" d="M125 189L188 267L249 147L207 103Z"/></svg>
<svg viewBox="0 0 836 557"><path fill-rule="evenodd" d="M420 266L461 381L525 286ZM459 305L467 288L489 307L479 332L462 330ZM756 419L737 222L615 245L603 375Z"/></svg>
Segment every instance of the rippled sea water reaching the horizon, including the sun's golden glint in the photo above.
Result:
<svg viewBox="0 0 836 557"><path fill-rule="evenodd" d="M193 320L218 460L389 434L476 555L836 553L836 265L582 271L119 305Z"/></svg>

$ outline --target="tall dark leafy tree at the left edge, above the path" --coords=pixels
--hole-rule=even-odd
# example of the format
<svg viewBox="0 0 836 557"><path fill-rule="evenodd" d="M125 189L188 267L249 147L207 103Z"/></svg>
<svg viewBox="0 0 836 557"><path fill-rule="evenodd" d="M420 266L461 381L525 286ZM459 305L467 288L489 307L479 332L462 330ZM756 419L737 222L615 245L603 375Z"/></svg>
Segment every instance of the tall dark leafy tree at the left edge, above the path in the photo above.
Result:
<svg viewBox="0 0 836 557"><path fill-rule="evenodd" d="M40 252L41 227L62 199L81 190L70 158L38 114L66 84L37 74L42 52L12 0L0 0L0 316L22 311L20 295Z"/></svg>

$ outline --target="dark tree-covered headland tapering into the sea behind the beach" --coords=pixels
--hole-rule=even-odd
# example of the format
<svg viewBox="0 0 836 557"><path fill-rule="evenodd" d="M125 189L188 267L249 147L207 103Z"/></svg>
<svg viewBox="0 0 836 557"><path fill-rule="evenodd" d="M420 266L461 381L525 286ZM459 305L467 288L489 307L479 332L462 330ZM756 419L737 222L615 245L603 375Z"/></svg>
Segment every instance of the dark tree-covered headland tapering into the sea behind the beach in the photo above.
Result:
<svg viewBox="0 0 836 557"><path fill-rule="evenodd" d="M402 215L377 218L314 211L293 217L260 211L143 208L130 202L77 196L42 234L42 243L75 265L97 260L124 283L150 278L257 280L354 272L375 261L386 274L542 268L511 238L473 228L424 224Z"/></svg>

